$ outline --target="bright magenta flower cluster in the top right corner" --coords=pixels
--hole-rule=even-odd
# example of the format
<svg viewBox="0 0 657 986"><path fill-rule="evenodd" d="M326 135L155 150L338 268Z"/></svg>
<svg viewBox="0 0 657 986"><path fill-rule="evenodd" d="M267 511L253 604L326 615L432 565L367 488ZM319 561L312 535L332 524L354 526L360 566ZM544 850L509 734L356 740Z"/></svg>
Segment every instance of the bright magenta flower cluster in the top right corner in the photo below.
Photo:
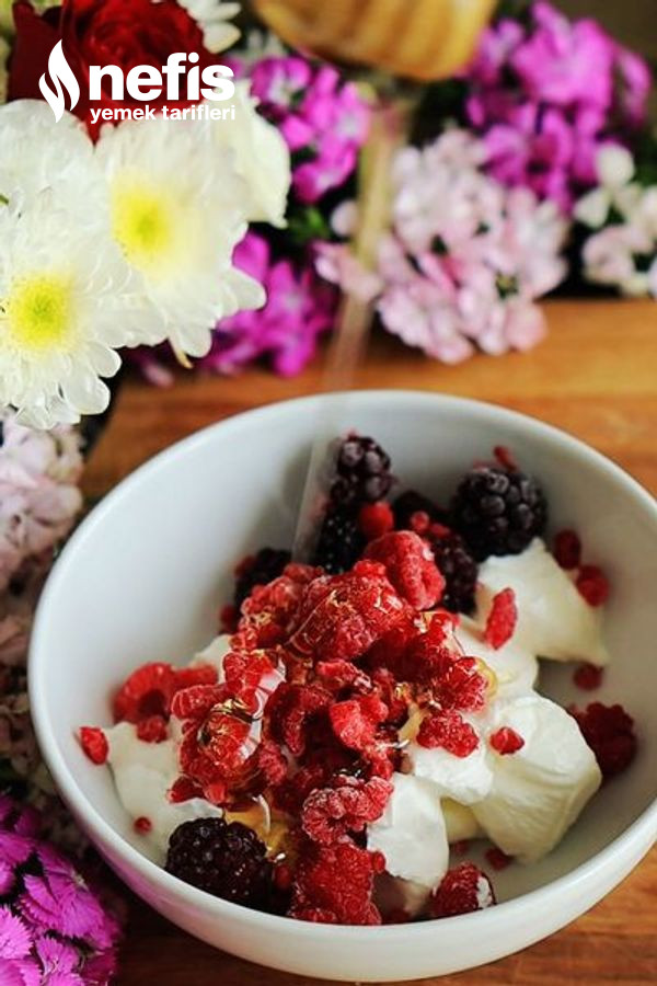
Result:
<svg viewBox="0 0 657 986"><path fill-rule="evenodd" d="M569 213L595 184L600 148L645 119L650 73L596 21L570 22L539 0L529 27L503 20L484 33L466 81L489 173Z"/></svg>

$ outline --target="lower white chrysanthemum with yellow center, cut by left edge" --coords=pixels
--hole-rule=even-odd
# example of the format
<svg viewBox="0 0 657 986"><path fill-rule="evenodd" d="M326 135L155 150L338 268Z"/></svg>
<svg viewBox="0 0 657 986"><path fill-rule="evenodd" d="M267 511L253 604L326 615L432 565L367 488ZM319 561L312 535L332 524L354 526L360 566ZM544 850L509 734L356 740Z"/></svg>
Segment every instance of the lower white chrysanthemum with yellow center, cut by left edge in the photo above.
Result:
<svg viewBox="0 0 657 986"><path fill-rule="evenodd" d="M96 217L87 223L42 193L0 209L0 403L50 428L104 411L100 377L120 365L125 265Z"/></svg>

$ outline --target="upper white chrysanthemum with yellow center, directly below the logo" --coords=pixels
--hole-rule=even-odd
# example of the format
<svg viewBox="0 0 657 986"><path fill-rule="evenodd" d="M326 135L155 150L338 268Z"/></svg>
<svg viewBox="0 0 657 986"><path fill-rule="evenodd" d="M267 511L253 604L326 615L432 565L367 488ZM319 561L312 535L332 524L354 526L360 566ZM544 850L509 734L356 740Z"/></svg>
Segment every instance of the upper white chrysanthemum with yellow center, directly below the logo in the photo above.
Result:
<svg viewBox="0 0 657 986"><path fill-rule="evenodd" d="M182 359L203 356L218 319L265 300L232 264L250 207L232 151L198 122L160 117L104 127L96 159L131 291L146 302L127 325L129 344L169 339Z"/></svg>

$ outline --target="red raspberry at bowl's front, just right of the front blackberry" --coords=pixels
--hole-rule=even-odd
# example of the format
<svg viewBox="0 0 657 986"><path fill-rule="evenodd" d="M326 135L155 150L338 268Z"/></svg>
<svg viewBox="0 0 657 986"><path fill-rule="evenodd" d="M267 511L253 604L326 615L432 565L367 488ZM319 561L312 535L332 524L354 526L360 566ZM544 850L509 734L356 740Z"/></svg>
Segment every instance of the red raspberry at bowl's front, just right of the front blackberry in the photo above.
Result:
<svg viewBox="0 0 657 986"><path fill-rule="evenodd" d="M372 904L377 865L372 855L351 842L304 847L292 884L288 915L336 925L380 925Z"/></svg>

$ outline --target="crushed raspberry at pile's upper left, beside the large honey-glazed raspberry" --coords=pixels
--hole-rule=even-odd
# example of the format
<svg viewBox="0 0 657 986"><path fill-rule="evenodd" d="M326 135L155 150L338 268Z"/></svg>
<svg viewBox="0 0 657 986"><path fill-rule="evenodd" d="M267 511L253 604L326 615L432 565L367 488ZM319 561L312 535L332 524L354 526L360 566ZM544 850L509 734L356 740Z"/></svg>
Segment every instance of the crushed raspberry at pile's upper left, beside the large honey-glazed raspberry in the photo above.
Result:
<svg viewBox="0 0 657 986"><path fill-rule="evenodd" d="M249 640L254 646L270 647L286 641L295 628L304 589L320 571L289 564L278 578L256 585L242 603L238 624L241 642Z"/></svg>

